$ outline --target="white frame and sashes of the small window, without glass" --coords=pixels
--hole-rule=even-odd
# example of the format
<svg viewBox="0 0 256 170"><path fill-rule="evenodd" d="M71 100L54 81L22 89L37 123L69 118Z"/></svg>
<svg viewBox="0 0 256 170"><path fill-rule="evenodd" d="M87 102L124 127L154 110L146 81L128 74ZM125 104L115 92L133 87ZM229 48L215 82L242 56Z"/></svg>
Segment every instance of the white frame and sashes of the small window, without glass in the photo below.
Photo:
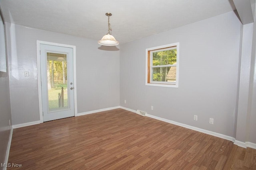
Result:
<svg viewBox="0 0 256 170"><path fill-rule="evenodd" d="M152 62L152 53L153 52L166 51L166 50L170 50L170 49L176 49L177 50L176 64L168 64L168 65L161 65L161 66L153 66L152 65L152 63L153 63ZM162 45L162 46L152 47L152 48L146 49L146 86L160 86L160 87L178 88L179 54L180 54L179 53L179 43L172 43L172 44L167 44L167 45ZM148 55L150 55L150 57ZM148 59L150 59L150 61L148 61ZM167 67L167 66L176 66L176 82L152 81L152 68Z"/></svg>

